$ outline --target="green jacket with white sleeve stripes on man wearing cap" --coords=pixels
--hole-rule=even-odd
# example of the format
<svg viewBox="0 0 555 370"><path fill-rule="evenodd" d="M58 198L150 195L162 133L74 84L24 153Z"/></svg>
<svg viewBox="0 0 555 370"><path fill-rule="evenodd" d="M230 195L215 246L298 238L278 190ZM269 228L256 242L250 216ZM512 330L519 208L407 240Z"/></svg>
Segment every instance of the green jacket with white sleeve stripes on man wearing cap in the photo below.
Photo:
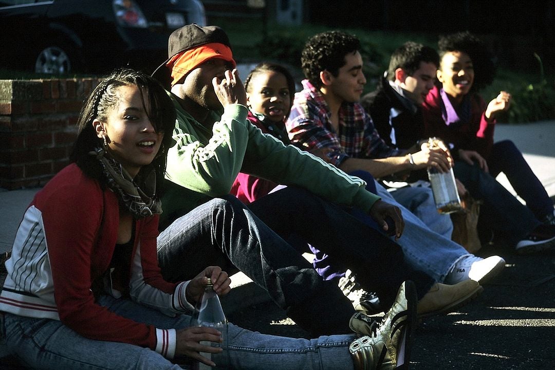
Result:
<svg viewBox="0 0 555 370"><path fill-rule="evenodd" d="M239 172L304 187L331 202L356 205L366 212L380 199L364 188L361 179L263 134L246 119L244 105L226 106L221 118L210 112L215 123L209 130L170 96L177 111L176 144L168 151L161 229L213 197L229 194Z"/></svg>

